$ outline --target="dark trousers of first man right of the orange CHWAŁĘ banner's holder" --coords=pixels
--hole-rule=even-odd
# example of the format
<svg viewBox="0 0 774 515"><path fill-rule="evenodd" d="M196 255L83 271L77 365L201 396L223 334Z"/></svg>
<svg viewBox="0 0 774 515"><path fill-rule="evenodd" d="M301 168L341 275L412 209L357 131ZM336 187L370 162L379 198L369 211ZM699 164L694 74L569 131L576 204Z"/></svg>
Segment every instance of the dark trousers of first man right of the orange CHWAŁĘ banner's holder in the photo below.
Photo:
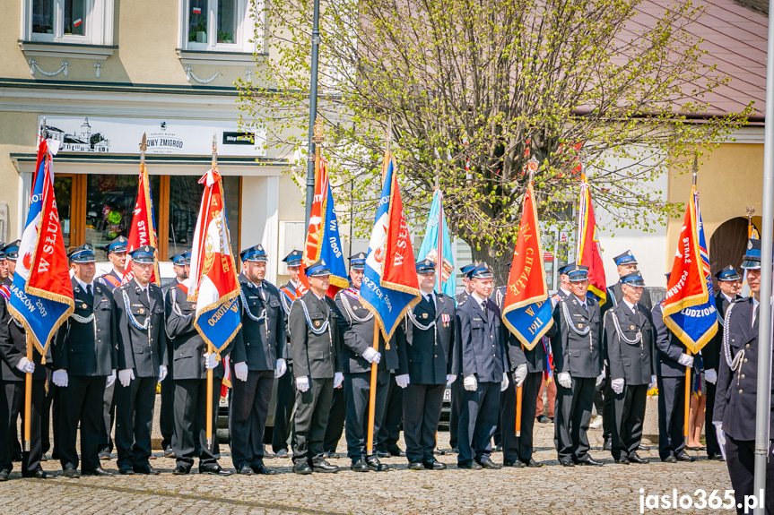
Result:
<svg viewBox="0 0 774 515"><path fill-rule="evenodd" d="M570 388L556 385L553 443L559 459L580 461L588 455L588 425L594 407L595 377L573 377Z"/></svg>

